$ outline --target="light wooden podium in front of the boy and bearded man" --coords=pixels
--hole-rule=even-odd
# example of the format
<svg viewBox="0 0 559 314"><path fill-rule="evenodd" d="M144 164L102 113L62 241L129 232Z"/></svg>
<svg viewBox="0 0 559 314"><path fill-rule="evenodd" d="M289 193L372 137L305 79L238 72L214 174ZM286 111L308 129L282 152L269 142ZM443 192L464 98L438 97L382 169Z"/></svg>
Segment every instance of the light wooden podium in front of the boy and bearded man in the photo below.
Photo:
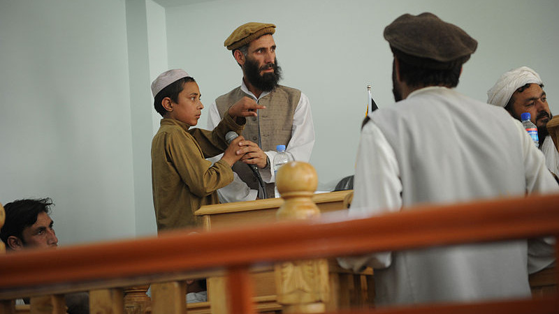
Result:
<svg viewBox="0 0 559 314"><path fill-rule="evenodd" d="M346 210L343 205L344 198L351 192L352 190L342 190L315 194L312 196L312 201L317 204L321 213ZM270 223L276 220L276 211L283 202L284 200L281 198L273 198L207 205L198 209L195 215L203 218L205 230L241 224ZM329 303L326 304L326 311L349 306L372 306L374 299L372 269L367 269L363 274L353 274L351 271L339 267L335 260L328 261L328 269L331 297ZM282 307L276 301L273 265L252 269L252 278L257 311L261 313L281 311ZM208 301L211 313L227 313L224 291L224 277L208 278Z"/></svg>

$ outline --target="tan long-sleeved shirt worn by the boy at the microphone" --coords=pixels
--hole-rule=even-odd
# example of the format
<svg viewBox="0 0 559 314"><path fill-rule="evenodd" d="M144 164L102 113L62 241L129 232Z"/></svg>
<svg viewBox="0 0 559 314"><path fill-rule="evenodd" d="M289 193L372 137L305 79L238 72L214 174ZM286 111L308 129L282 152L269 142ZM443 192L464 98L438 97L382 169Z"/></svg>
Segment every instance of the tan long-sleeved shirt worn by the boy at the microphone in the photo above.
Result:
<svg viewBox="0 0 559 314"><path fill-rule="evenodd" d="M175 119L161 119L152 140L152 191L157 231L194 227L194 211L217 204L217 189L233 181L233 171L224 161L213 164L205 158L226 148L225 134L241 133L244 125L226 117L212 130L192 128Z"/></svg>

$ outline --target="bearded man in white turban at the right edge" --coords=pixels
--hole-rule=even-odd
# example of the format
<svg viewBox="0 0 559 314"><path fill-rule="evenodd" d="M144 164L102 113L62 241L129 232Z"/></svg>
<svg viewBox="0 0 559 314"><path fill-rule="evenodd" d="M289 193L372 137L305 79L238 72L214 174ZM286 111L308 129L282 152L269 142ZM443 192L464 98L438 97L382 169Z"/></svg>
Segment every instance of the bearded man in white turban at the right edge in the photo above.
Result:
<svg viewBox="0 0 559 314"><path fill-rule="evenodd" d="M559 152L546 124L553 114L549 111L544 84L539 74L528 66L509 70L487 91L487 102L504 107L515 119L521 120L523 112L530 112L532 123L537 126L539 149L546 156L546 167L559 176Z"/></svg>

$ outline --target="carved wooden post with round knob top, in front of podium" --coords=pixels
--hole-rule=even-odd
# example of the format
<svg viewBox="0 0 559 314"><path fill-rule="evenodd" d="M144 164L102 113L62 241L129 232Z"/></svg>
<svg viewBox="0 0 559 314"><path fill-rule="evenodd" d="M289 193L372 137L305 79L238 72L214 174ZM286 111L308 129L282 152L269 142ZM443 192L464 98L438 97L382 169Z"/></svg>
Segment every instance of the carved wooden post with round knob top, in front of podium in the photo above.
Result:
<svg viewBox="0 0 559 314"><path fill-rule="evenodd" d="M317 172L309 163L293 161L279 168L277 190L285 200L277 210L283 220L320 216L311 197L317 189ZM328 301L328 262L299 260L275 265L277 302L283 313L324 313Z"/></svg>

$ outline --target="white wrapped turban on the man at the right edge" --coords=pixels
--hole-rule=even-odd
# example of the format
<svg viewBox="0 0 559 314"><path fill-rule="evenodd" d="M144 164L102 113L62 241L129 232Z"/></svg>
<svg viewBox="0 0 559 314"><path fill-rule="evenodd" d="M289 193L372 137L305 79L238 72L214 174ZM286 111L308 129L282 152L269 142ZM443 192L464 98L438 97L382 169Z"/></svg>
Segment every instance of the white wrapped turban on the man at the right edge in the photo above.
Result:
<svg viewBox="0 0 559 314"><path fill-rule="evenodd" d="M504 107L509 103L516 89L523 87L525 84L543 83L542 79L539 78L539 74L535 70L528 68L528 66L509 70L509 72L501 75L495 85L487 91L487 103Z"/></svg>

